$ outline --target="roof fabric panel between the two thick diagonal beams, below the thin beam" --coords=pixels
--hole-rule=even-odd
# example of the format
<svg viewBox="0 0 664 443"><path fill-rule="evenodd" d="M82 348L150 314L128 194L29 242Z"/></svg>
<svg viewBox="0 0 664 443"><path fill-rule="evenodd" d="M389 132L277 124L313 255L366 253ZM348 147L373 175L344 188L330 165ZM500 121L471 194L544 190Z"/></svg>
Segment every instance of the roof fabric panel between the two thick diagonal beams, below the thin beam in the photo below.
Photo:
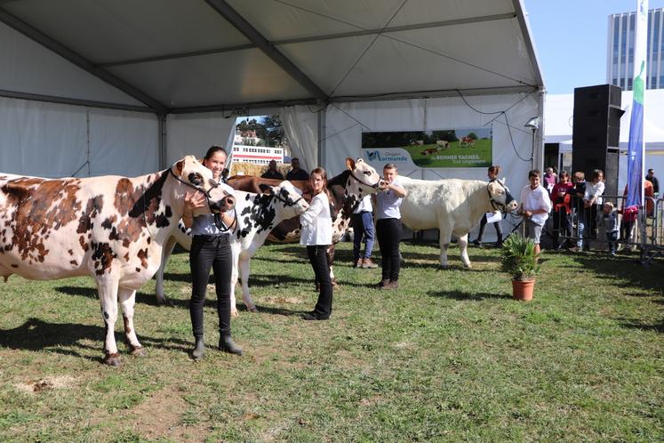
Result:
<svg viewBox="0 0 664 443"><path fill-rule="evenodd" d="M171 108L308 98L258 49L108 68Z"/></svg>

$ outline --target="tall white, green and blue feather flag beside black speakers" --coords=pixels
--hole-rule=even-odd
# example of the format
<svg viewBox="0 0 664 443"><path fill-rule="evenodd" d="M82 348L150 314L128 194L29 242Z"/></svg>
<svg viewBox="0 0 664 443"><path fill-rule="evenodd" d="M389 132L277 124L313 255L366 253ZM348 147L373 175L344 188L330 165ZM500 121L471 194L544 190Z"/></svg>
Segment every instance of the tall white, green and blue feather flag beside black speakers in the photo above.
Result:
<svg viewBox="0 0 664 443"><path fill-rule="evenodd" d="M648 36L648 0L636 0L634 81L628 141L628 195L625 207L644 205L644 96Z"/></svg>

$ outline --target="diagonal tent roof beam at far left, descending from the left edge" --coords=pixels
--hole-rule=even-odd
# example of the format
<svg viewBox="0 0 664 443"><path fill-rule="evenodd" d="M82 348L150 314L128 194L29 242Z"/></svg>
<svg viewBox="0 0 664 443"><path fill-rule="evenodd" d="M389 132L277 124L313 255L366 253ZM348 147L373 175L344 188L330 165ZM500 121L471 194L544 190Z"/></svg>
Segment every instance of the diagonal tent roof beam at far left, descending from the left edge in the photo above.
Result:
<svg viewBox="0 0 664 443"><path fill-rule="evenodd" d="M25 21L14 17L9 12L4 11L2 8L0 8L0 21L4 22L4 24L10 28L16 29L24 36L28 36L28 38L36 41L38 44L41 44L52 52L57 53L65 60L74 63L77 67L82 68L84 71L92 74L92 76L100 78L108 85L115 86L117 89L131 96L133 99L145 103L148 105L148 107L154 109L154 112L157 114L166 113L166 107L159 101L156 101L152 97L148 96L148 94L143 93L134 86L129 85L128 83L124 82L124 80L114 76L107 70L99 68L98 66L94 65L92 61L85 59L82 55L72 51L64 44L56 42L50 36L46 36L43 32L37 30L36 28L32 28Z"/></svg>

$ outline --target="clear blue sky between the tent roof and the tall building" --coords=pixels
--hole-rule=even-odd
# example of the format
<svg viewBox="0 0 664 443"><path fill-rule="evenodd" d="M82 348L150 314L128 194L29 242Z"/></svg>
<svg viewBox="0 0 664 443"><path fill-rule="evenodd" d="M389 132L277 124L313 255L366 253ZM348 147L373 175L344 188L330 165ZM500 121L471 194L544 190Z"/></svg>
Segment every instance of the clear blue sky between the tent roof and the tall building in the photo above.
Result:
<svg viewBox="0 0 664 443"><path fill-rule="evenodd" d="M524 0L548 93L606 84L609 15L636 11L636 0ZM650 0L648 9L664 7Z"/></svg>

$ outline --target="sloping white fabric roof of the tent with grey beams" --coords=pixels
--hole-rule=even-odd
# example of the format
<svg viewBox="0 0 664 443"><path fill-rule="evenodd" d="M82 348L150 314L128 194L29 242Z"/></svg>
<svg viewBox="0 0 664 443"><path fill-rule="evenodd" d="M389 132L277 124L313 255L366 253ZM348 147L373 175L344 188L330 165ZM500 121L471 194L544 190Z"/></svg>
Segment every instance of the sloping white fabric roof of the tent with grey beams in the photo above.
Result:
<svg viewBox="0 0 664 443"><path fill-rule="evenodd" d="M0 0L0 21L117 90L89 100L159 113L543 88L523 0Z"/></svg>

